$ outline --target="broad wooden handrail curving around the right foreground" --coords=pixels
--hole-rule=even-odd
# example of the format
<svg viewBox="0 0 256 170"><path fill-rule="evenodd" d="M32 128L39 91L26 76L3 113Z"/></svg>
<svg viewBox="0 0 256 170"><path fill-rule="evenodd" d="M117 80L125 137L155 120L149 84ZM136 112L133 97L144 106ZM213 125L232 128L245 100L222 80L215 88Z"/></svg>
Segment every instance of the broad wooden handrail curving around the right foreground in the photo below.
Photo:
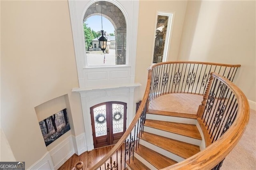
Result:
<svg viewBox="0 0 256 170"><path fill-rule="evenodd" d="M236 96L238 103L238 113L236 119L230 128L213 144L201 152L198 152L194 156L191 156L190 158L182 162L178 162L172 166L166 167L163 170L212 169L228 155L228 153L234 148L241 138L249 121L250 108L248 100L244 93L236 85L234 85L234 83L228 81L228 79L218 75L217 73L211 74L213 77L228 86Z"/></svg>

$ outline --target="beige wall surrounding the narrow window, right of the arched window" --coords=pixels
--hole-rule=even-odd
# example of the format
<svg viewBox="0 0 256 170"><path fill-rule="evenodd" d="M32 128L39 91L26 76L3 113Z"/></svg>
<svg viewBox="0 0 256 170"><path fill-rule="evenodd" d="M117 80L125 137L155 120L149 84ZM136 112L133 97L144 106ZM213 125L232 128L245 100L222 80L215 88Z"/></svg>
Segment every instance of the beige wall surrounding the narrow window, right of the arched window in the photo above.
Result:
<svg viewBox="0 0 256 170"><path fill-rule="evenodd" d="M135 102L142 99L147 80L147 68L153 61L157 11L175 12L173 32L169 43L168 61L178 59L178 49L187 1L141 0L138 20L138 40L135 82L142 86L135 89Z"/></svg>

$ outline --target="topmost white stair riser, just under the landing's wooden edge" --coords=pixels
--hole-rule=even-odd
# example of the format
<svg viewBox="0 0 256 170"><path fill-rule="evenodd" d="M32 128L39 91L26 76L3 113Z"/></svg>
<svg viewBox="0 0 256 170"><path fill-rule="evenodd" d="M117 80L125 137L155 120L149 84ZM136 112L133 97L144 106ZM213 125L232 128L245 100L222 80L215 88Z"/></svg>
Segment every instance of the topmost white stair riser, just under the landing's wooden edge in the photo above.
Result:
<svg viewBox="0 0 256 170"><path fill-rule="evenodd" d="M184 117L173 117L165 115L154 115L147 113L146 119L157 120L157 121L167 121L167 122L176 122L176 123L186 123L196 125L196 119L184 118Z"/></svg>

